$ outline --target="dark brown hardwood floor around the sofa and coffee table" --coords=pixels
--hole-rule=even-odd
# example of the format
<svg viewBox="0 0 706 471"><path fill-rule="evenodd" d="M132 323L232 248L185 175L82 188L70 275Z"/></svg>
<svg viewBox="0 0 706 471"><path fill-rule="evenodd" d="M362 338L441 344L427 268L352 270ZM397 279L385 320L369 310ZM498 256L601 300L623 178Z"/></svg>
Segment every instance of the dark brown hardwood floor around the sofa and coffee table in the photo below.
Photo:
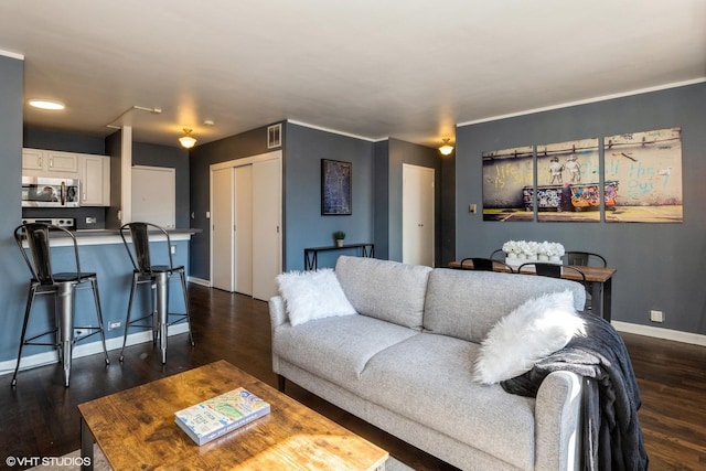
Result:
<svg viewBox="0 0 706 471"><path fill-rule="evenodd" d="M276 386L270 364L267 303L240 295L189 286L195 347L188 335L169 339L167 365L151 343L133 345L118 362L118 351L74 360L71 387L58 364L0 376L0 450L7 457L57 457L79 448L76 406L86 400L160 377L226 360ZM651 470L706 469L706 347L623 335L638 376L640 410ZM454 468L365 424L288 383L287 393L391 452L417 470ZM6 459L0 467L7 468ZM11 468L13 470L19 467Z"/></svg>

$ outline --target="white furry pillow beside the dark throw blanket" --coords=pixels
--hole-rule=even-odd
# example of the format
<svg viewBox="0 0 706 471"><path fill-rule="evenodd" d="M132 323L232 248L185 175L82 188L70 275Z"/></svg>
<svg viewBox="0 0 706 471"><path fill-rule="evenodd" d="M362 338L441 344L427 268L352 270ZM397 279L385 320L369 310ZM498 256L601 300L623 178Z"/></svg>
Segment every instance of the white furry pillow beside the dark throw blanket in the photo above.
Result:
<svg viewBox="0 0 706 471"><path fill-rule="evenodd" d="M520 376L561 350L575 334L585 334L571 291L531 299L503 317L483 340L473 378L494 384Z"/></svg>

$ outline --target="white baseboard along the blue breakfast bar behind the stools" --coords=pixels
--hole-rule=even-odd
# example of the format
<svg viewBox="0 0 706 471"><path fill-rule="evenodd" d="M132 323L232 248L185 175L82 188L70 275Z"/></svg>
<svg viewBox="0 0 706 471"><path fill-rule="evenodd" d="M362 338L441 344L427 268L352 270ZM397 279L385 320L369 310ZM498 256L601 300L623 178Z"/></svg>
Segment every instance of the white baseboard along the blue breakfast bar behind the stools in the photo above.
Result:
<svg viewBox="0 0 706 471"><path fill-rule="evenodd" d="M169 328L169 336L176 335L180 333L185 333L185 332L189 332L189 324L186 324L185 322L179 323L176 325L172 325ZM98 338L98 335L96 335L96 338ZM136 345L138 343L146 343L151 341L152 341L152 331L135 332L128 335L126 345L127 346ZM106 340L106 350L108 352L113 350L118 350L121 347L122 347L121 336L116 336L116 338ZM100 345L100 340L97 340L95 342L75 345L73 349L72 356L74 358L79 358L82 356L88 356L88 355L93 355L101 352L103 352L103 346ZM111 358L110 361L113 362L114 360ZM38 366L44 366L44 365L49 365L56 362L58 362L58 353L55 350L51 352L43 352L34 355L22 356L20 371L30 370ZM0 375L13 373L15 365L17 365L17 360L7 360L4 362L0 362Z"/></svg>

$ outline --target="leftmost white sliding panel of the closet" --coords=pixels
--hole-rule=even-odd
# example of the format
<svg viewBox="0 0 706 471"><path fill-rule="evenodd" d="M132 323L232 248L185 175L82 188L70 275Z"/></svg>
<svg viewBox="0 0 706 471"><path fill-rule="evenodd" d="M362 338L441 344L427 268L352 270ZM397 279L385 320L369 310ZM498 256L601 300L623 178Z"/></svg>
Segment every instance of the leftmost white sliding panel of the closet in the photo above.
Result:
<svg viewBox="0 0 706 471"><path fill-rule="evenodd" d="M211 285L233 291L233 168L211 172Z"/></svg>

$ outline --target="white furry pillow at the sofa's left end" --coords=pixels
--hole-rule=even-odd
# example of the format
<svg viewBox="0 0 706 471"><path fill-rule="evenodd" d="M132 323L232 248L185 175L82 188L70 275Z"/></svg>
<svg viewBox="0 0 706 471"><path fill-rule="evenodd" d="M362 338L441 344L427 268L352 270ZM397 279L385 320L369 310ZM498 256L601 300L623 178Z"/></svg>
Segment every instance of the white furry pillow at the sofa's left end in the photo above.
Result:
<svg viewBox="0 0 706 471"><path fill-rule="evenodd" d="M314 319L357 313L331 268L289 271L278 275L277 283L292 325Z"/></svg>

